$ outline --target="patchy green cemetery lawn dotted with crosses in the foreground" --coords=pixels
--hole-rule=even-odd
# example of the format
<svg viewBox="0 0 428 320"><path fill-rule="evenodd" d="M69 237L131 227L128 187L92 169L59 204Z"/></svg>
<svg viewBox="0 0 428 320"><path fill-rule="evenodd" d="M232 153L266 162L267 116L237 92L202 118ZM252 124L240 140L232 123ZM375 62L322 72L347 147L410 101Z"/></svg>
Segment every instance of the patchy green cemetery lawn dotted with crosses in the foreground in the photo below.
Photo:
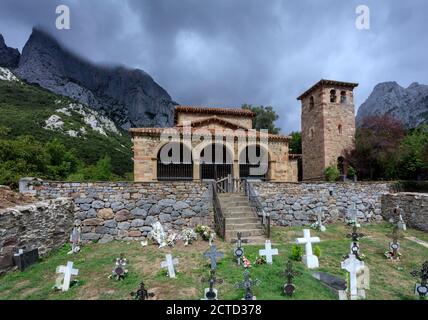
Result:
<svg viewBox="0 0 428 320"><path fill-rule="evenodd" d="M273 228L273 247L279 249L279 256L273 258L273 265L254 265L250 269L251 278L259 279L261 284L254 288L258 300L331 300L336 299L318 280L312 278L311 271L301 262L295 262L294 267L302 275L294 279L297 287L292 298L281 294L286 282L283 275L285 264L291 252L292 242L302 236L303 228ZM414 286L418 279L409 273L419 269L422 262L428 259L428 249L423 246L401 239L402 258L398 262L388 261L383 253L388 248L389 234L392 227L388 223L363 226L361 232L367 237L360 241L361 251L366 255L366 264L370 268L370 290L366 291L367 298L373 300L408 300L416 299ZM350 228L342 224L327 226L327 232L313 231L314 236L321 238L319 244L322 250L319 271L329 272L345 278L346 273L340 269L342 256L348 252L350 240L346 234ZM426 233L408 230L406 236L415 236L428 241ZM217 284L219 299L238 300L244 291L235 289L235 283L243 280L243 267L239 267L233 257L231 244L216 240L219 251L225 253L225 258L218 263L218 278L223 279ZM245 255L254 262L258 256L260 245L245 245ZM67 256L69 245L52 252L40 263L24 272L13 272L0 277L0 300L5 299L131 299L130 292L136 291L141 280L144 280L149 291L156 294L156 299L200 299L209 274L209 261L202 256L209 249L208 243L197 241L188 247L182 242L175 248L158 249L150 245L141 247L138 242L113 242L109 244L89 244L73 256ZM120 282L108 279L114 266L114 260L120 253L128 258L128 277ZM177 279L166 277L166 271L160 269L165 254L172 253L179 259ZM55 284L55 269L73 261L79 269L79 285L73 286L66 293L52 289Z"/></svg>

